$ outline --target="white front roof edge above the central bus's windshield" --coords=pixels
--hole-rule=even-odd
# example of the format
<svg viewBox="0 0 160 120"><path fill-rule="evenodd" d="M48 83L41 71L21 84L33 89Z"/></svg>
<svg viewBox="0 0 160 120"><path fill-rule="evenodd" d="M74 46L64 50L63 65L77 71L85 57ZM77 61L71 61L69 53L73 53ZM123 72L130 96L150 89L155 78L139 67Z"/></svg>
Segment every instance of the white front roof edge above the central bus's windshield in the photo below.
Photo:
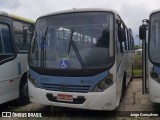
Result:
<svg viewBox="0 0 160 120"><path fill-rule="evenodd" d="M58 11L58 12L53 12L53 13L49 13L49 14L46 14L46 15L43 15L43 16L40 16L41 17L47 17L47 16L50 16L50 15L56 15L56 14L63 14L63 13L73 13L73 12L92 12L92 11L96 11L96 12L113 12L115 14L118 15L118 13L115 11L115 10L111 10L111 9L105 9L105 8L73 8L73 9L70 9L70 10L63 10L63 11Z"/></svg>

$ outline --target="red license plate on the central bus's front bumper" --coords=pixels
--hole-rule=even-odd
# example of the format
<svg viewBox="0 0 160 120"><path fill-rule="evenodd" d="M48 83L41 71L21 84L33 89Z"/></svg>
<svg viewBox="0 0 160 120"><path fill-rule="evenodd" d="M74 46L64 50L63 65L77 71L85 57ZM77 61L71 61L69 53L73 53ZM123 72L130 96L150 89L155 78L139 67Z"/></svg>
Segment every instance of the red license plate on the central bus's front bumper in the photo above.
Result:
<svg viewBox="0 0 160 120"><path fill-rule="evenodd" d="M73 102L73 96L72 95L65 95L65 94L58 94L57 100L58 101Z"/></svg>

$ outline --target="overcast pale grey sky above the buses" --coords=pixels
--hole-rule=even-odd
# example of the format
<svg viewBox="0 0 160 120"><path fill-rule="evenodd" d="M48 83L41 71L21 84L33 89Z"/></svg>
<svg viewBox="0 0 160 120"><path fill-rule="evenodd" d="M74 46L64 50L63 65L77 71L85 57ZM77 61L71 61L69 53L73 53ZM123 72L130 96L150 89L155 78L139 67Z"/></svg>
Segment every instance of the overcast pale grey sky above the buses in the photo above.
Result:
<svg viewBox="0 0 160 120"><path fill-rule="evenodd" d="M116 10L138 44L138 29L142 19L160 9L160 0L0 0L0 9L36 20L39 16L72 8L108 8Z"/></svg>

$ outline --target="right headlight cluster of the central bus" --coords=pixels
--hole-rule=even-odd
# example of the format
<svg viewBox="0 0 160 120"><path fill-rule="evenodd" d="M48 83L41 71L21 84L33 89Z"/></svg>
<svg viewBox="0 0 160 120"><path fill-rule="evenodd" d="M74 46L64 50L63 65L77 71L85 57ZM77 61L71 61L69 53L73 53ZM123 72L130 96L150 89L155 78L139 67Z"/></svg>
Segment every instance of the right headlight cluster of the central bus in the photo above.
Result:
<svg viewBox="0 0 160 120"><path fill-rule="evenodd" d="M96 85L93 92L102 92L108 87L110 87L112 84L113 84L113 75L109 74L107 78L103 79Z"/></svg>

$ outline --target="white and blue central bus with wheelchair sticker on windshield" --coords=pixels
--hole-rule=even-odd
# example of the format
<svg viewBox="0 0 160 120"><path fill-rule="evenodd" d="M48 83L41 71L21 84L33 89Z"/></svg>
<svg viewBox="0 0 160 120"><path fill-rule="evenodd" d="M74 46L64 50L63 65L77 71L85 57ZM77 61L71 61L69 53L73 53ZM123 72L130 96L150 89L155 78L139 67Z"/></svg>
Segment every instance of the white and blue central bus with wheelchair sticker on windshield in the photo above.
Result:
<svg viewBox="0 0 160 120"><path fill-rule="evenodd" d="M31 102L114 110L133 75L132 30L113 10L81 8L41 16L28 56Z"/></svg>

